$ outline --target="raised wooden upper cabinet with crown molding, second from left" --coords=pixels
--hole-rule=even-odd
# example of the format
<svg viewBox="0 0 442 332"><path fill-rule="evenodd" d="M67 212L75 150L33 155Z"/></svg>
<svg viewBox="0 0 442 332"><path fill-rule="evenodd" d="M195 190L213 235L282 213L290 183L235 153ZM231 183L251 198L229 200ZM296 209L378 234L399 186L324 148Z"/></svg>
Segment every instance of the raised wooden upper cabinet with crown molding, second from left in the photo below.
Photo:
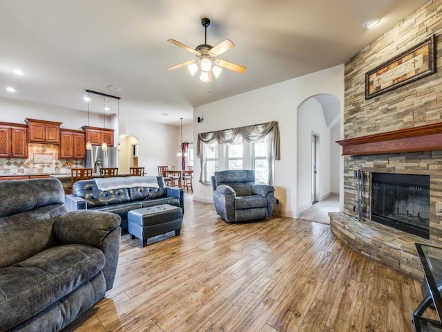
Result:
<svg viewBox="0 0 442 332"><path fill-rule="evenodd" d="M30 143L60 143L60 124L46 120L25 119L29 126Z"/></svg>

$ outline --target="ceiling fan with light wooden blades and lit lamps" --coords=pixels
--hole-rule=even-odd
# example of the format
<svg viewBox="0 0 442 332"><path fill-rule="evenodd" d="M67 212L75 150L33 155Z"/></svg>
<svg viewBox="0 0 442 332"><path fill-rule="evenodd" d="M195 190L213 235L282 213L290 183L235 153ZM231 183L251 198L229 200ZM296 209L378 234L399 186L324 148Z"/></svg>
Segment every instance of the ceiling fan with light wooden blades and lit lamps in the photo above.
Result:
<svg viewBox="0 0 442 332"><path fill-rule="evenodd" d="M196 59L171 66L167 68L167 70L173 71L174 69L187 66L191 74L195 75L195 73L201 69L200 80L202 80L202 82L212 82L212 74L215 75L215 77L218 77L222 71L222 68L236 71L237 73L241 74L244 73L244 71L247 69L246 67L223 59L218 59L218 55L230 50L235 46L235 44L233 44L229 39L225 39L224 42L221 42L214 47L207 44L207 27L210 25L210 19L204 17L201 19L201 24L204 26L204 44L196 46L195 50L189 46L177 42L175 39L167 40L173 45L184 48L184 50L187 50L196 57Z"/></svg>

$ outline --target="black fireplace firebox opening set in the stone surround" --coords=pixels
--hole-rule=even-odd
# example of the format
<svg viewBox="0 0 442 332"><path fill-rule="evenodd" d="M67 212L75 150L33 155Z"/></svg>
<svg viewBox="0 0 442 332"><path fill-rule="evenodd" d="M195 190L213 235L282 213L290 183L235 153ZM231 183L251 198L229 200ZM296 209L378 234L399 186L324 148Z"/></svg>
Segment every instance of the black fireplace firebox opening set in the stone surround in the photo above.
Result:
<svg viewBox="0 0 442 332"><path fill-rule="evenodd" d="M372 173L372 221L430 239L430 176Z"/></svg>

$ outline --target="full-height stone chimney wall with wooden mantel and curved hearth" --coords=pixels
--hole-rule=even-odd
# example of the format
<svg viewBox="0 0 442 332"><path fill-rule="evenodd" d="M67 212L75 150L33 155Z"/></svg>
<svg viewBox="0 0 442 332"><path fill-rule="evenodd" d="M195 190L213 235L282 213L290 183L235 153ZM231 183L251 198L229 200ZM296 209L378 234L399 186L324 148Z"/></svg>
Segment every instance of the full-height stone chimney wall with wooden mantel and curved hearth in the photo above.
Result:
<svg viewBox="0 0 442 332"><path fill-rule="evenodd" d="M428 1L345 63L344 188L340 193L344 206L330 219L332 232L345 244L416 279L422 279L422 270L414 242L442 246L441 4L442 0ZM370 70L433 34L436 73L365 98ZM363 221L354 221L354 171L359 169L367 174ZM372 221L373 173L429 176L429 239Z"/></svg>

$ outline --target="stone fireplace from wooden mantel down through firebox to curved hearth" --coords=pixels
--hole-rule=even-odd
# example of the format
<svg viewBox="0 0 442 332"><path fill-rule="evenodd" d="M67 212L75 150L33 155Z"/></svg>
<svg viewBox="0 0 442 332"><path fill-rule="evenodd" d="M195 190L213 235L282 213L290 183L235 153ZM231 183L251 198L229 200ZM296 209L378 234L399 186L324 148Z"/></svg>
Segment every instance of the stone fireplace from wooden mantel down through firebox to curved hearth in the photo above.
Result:
<svg viewBox="0 0 442 332"><path fill-rule="evenodd" d="M347 155L344 213L330 213L332 232L365 257L415 279L422 272L414 243L442 246L442 149L427 150L435 143L442 147L442 124L339 141ZM353 218L358 170L364 174L363 221Z"/></svg>

